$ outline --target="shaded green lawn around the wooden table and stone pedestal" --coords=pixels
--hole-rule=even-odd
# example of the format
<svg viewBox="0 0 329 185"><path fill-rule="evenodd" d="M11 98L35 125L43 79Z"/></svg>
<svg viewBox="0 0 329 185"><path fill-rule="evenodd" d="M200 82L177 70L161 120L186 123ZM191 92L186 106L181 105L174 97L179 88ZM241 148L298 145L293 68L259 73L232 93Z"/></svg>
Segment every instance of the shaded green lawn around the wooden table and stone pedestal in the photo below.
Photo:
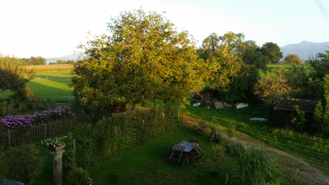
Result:
<svg viewBox="0 0 329 185"><path fill-rule="evenodd" d="M57 136L60 137L60 136ZM114 157L105 157L102 161L88 168L93 185L108 184L225 184L226 173L214 176L213 164L205 158L201 164L194 162L185 163L182 167L179 163L170 163L167 157L169 150L164 148L188 138L199 140L200 147L208 154L209 136L196 135L193 129L185 126L170 130L161 136L152 139L149 143L121 152ZM40 155L47 156L45 168L36 180L36 184L50 185L52 183L52 155L49 150L41 146ZM70 146L66 144L64 149ZM63 163L67 158L63 154ZM63 164L63 180L68 171ZM228 181L230 182L230 181ZM228 183L229 184L229 183Z"/></svg>

